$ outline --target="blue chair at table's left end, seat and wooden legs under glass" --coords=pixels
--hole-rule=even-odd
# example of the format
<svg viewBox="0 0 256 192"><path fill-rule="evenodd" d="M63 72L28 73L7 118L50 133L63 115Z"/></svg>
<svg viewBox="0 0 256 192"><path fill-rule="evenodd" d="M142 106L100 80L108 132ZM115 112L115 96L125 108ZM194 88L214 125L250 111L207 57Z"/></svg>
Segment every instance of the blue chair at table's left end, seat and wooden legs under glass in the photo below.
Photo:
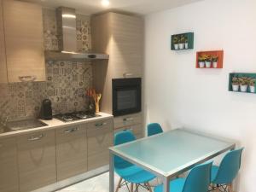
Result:
<svg viewBox="0 0 256 192"><path fill-rule="evenodd" d="M122 143L128 143L136 140L136 137L131 133L131 131L119 131L114 135L113 144L119 145ZM154 179L154 175L150 172L143 170L142 168L131 164L130 162L120 158L119 156L113 157L113 165L114 171L119 175L119 183L116 188L116 192L119 191L119 188L126 185L128 187L128 183L131 183L131 190L133 192L133 184L136 184L136 191L138 186L142 183L145 184L145 187L151 191L149 186L149 181ZM123 182L124 180L124 182ZM122 183L123 182L123 183Z"/></svg>

